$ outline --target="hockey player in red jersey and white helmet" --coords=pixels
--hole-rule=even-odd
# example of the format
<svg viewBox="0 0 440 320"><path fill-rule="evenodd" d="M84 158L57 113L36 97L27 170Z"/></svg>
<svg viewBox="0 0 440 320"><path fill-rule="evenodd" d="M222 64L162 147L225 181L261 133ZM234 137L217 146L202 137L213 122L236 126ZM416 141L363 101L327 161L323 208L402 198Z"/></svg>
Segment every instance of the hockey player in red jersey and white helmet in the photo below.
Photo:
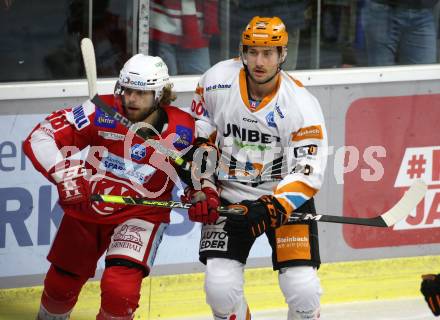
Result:
<svg viewBox="0 0 440 320"><path fill-rule="evenodd" d="M194 120L175 99L159 57L137 54L122 68L107 104L169 149L193 142ZM74 156L88 149L85 158ZM35 168L57 187L64 216L50 249L39 320L69 319L85 282L106 252L96 319L133 319L169 223L170 209L90 202L90 194L169 200L177 175L168 159L90 100L58 110L23 145ZM72 157L73 156L73 157Z"/></svg>

